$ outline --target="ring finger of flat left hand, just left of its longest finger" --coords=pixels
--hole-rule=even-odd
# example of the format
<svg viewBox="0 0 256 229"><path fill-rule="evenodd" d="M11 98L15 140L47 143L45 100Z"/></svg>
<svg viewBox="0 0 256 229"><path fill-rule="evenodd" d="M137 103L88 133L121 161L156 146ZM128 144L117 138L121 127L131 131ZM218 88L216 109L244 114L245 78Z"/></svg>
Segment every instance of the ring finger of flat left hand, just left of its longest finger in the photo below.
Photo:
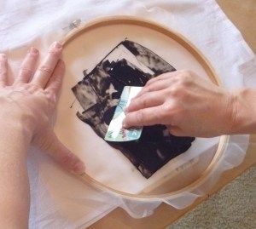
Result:
<svg viewBox="0 0 256 229"><path fill-rule="evenodd" d="M20 66L20 72L18 77L15 78L15 83L28 83L32 77L37 61L38 61L38 49L32 47L26 54L25 59L23 60Z"/></svg>

